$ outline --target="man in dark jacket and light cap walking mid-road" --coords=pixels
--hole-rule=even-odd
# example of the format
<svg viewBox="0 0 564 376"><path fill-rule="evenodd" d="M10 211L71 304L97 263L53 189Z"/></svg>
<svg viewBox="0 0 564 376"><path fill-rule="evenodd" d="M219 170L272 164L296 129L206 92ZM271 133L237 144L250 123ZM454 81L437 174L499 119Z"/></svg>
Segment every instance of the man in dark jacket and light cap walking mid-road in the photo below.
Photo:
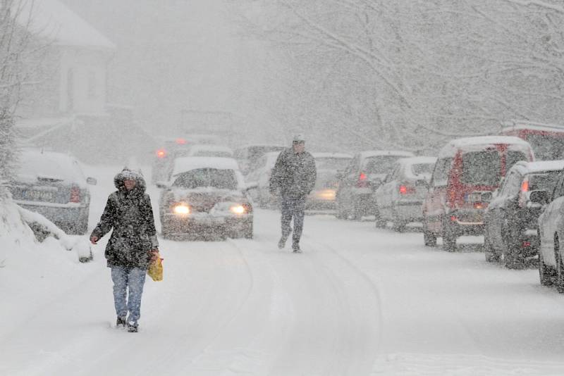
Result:
<svg viewBox="0 0 564 376"><path fill-rule="evenodd" d="M316 179L315 160L312 154L305 151L305 137L296 134L292 147L282 151L276 159L270 177L271 194L280 195L282 237L278 242L279 249L284 248L292 232L290 222L293 218L292 249L296 253L301 252L300 237L304 225L305 201L309 192L312 192Z"/></svg>

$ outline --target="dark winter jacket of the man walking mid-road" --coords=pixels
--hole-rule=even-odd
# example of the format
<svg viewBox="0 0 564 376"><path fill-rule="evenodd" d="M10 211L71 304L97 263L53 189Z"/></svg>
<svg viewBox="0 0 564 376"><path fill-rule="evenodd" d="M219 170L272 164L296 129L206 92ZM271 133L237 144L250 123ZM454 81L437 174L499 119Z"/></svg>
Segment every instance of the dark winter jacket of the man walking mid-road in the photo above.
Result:
<svg viewBox="0 0 564 376"><path fill-rule="evenodd" d="M315 186L317 169L312 154L307 151L295 153L286 149L276 159L270 177L270 191L279 191L282 196L307 196Z"/></svg>

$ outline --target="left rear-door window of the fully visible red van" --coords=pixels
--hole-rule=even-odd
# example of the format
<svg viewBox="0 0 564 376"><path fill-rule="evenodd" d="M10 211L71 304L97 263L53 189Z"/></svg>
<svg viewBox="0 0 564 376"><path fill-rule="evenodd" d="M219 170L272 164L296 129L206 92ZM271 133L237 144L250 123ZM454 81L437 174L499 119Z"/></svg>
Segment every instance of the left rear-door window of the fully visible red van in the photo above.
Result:
<svg viewBox="0 0 564 376"><path fill-rule="evenodd" d="M501 156L496 149L462 154L462 183L495 186L501 178Z"/></svg>

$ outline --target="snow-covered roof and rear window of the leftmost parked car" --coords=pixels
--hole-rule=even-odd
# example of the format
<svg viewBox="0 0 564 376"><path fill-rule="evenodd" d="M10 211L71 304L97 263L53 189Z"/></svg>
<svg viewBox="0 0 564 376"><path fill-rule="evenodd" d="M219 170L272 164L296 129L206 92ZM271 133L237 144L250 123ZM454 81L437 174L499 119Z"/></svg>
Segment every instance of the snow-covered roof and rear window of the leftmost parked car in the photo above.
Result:
<svg viewBox="0 0 564 376"><path fill-rule="evenodd" d="M66 184L76 183L81 187L86 179L75 158L54 151L24 150L20 156L21 163L16 169L20 182L37 182L37 178L61 180Z"/></svg>

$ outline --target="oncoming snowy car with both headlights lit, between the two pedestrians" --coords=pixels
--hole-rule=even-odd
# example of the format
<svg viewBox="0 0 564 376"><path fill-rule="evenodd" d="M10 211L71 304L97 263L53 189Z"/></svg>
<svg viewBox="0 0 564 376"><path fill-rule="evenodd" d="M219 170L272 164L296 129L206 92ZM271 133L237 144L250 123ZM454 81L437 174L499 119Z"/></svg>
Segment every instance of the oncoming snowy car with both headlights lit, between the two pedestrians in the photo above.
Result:
<svg viewBox="0 0 564 376"><path fill-rule="evenodd" d="M159 183L164 237L253 236L253 208L237 162L232 158L183 157L174 161L168 183Z"/></svg>

